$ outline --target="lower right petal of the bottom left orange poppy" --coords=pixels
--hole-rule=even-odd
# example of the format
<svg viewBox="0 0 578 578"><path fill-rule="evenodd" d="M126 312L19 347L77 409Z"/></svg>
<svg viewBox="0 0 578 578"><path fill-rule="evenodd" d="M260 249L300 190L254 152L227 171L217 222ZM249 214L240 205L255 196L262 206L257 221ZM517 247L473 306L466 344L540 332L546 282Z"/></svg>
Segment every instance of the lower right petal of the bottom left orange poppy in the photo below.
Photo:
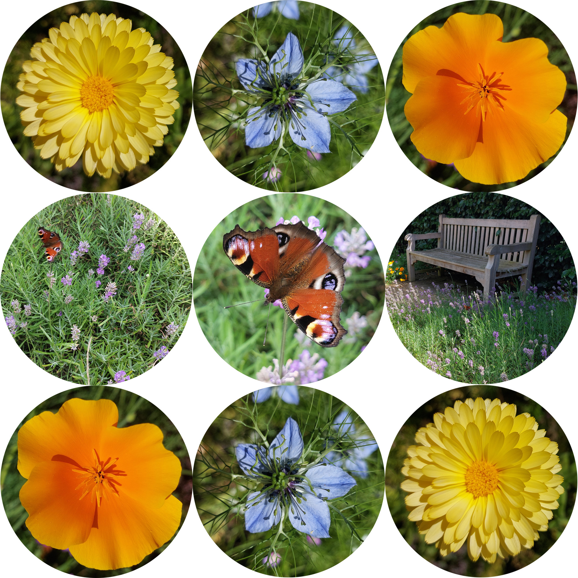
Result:
<svg viewBox="0 0 578 578"><path fill-rule="evenodd" d="M120 494L102 500L88 539L70 547L79 564L115 570L138 564L168 542L179 528L183 504L169 496L162 507L149 507Z"/></svg>

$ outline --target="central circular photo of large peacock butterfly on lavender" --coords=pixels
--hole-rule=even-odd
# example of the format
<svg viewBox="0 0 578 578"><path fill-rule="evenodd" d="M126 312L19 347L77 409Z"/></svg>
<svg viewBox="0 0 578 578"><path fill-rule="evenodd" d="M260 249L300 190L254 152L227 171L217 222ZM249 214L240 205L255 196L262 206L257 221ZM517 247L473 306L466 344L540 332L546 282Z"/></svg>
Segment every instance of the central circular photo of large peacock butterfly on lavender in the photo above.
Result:
<svg viewBox="0 0 578 578"><path fill-rule="evenodd" d="M203 245L193 284L213 349L263 384L287 384L290 403L297 385L338 372L365 349L385 287L357 221L299 194L272 194L228 214Z"/></svg>

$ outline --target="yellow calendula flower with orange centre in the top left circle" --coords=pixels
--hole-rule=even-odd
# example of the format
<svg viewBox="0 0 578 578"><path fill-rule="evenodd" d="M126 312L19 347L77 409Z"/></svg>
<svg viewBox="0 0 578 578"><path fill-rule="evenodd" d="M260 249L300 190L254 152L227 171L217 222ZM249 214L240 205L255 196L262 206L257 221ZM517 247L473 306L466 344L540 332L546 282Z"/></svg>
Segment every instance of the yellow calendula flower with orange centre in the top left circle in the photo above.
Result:
<svg viewBox="0 0 578 578"><path fill-rule="evenodd" d="M173 59L115 14L71 16L37 42L17 99L24 134L57 171L82 156L88 176L132 171L161 146L179 93Z"/></svg>

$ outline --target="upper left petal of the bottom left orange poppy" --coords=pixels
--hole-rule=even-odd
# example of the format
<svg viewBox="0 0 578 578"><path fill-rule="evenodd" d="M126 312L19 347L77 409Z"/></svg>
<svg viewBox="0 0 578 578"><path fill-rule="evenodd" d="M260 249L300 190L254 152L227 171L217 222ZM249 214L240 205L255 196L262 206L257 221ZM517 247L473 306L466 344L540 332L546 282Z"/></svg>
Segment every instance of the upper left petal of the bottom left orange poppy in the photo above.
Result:
<svg viewBox="0 0 578 578"><path fill-rule="evenodd" d="M110 399L69 399L58 413L42 412L18 431L18 472L28 478L34 466L58 454L79 465L92 464L92 448L117 421L118 410Z"/></svg>

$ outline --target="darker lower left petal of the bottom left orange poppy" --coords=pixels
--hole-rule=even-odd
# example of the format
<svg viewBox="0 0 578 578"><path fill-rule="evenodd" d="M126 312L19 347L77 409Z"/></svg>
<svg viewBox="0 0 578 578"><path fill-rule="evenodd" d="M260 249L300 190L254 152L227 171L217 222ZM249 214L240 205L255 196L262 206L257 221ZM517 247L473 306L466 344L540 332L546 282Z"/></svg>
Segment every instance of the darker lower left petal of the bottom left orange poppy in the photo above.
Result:
<svg viewBox="0 0 578 578"><path fill-rule="evenodd" d="M20 489L27 528L40 543L61 550L88 538L97 507L88 496L79 499L82 492L76 488L82 480L74 467L62 461L42 462Z"/></svg>

